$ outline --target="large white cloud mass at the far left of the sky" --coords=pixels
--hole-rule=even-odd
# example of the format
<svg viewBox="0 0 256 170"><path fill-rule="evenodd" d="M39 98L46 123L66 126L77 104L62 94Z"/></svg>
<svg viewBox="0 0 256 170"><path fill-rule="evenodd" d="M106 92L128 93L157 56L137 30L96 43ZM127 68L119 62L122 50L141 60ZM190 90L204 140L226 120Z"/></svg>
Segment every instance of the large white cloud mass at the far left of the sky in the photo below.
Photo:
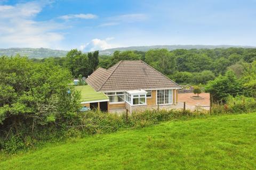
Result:
<svg viewBox="0 0 256 170"><path fill-rule="evenodd" d="M56 31L63 25L51 20L34 20L45 5L49 5L49 2L0 5L0 46L59 48L63 35Z"/></svg>

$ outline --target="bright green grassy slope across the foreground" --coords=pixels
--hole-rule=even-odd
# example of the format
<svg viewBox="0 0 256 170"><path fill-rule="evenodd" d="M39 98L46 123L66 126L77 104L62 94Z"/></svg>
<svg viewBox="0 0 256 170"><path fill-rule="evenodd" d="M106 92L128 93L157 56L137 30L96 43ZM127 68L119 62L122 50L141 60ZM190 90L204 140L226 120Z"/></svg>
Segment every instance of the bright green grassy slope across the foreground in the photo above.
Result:
<svg viewBox="0 0 256 170"><path fill-rule="evenodd" d="M51 144L1 169L256 169L256 114L167 122Z"/></svg>

